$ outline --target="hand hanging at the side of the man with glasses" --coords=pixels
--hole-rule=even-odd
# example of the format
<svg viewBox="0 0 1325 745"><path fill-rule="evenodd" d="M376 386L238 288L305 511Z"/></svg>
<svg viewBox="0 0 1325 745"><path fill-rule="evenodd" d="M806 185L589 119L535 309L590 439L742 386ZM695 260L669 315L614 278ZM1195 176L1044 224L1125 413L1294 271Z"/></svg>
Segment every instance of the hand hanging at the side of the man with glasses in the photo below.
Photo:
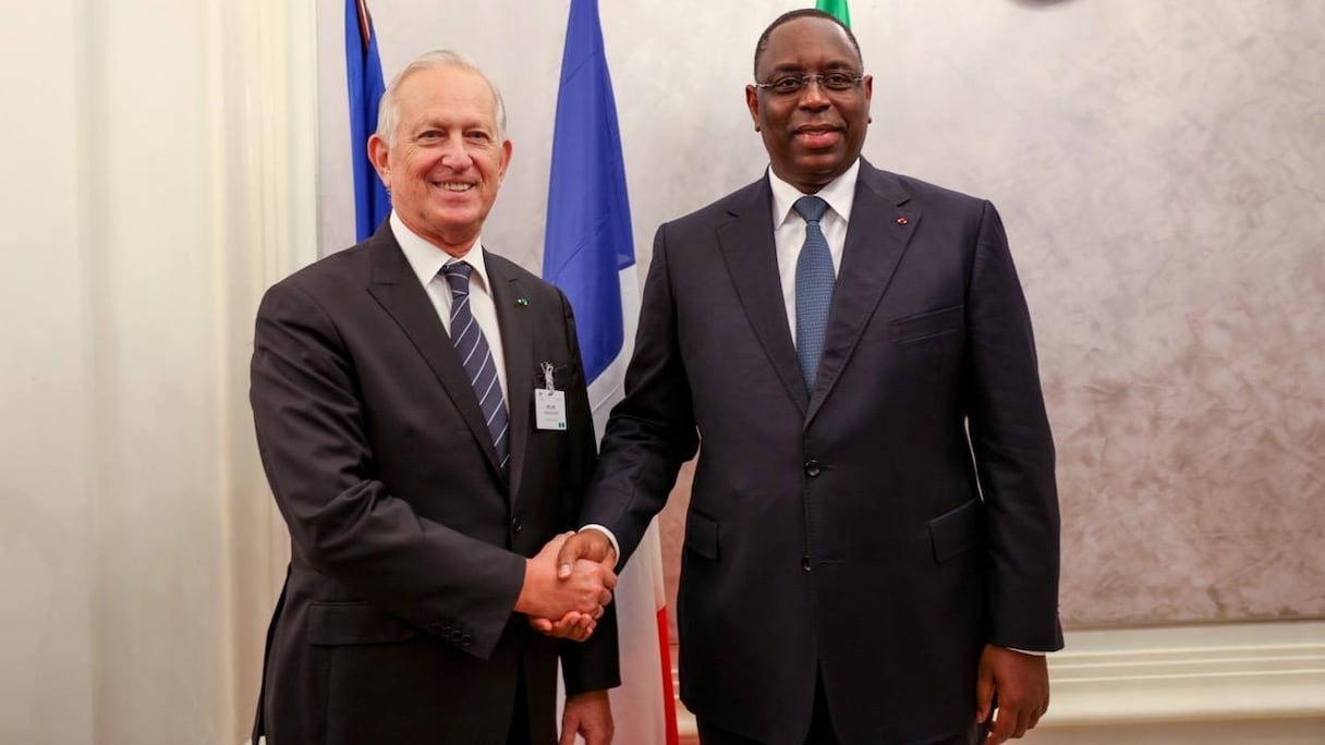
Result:
<svg viewBox="0 0 1325 745"><path fill-rule="evenodd" d="M998 718L987 745L1026 734L1049 709L1049 667L1044 655L986 644L975 681L975 721L988 721L998 697Z"/></svg>

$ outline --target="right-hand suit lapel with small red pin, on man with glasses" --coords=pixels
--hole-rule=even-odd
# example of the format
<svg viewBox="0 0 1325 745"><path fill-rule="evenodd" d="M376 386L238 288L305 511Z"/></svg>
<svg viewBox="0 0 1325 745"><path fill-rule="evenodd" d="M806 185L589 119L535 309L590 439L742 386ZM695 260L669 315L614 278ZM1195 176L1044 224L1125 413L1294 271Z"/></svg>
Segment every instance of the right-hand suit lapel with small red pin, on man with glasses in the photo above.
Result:
<svg viewBox="0 0 1325 745"><path fill-rule="evenodd" d="M841 376L920 224L921 212L909 200L896 176L861 158L807 426Z"/></svg>

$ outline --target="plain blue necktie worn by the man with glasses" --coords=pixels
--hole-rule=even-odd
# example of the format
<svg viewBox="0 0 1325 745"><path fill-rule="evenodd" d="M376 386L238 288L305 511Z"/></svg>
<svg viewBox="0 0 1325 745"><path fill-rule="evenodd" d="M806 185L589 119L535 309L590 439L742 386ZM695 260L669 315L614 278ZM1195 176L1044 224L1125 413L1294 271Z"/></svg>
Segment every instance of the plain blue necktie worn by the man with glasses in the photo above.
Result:
<svg viewBox="0 0 1325 745"><path fill-rule="evenodd" d="M806 243L796 258L796 357L806 390L814 391L819 359L824 354L828 309L832 308L832 255L828 239L819 228L828 203L818 196L802 196L795 209L806 219Z"/></svg>

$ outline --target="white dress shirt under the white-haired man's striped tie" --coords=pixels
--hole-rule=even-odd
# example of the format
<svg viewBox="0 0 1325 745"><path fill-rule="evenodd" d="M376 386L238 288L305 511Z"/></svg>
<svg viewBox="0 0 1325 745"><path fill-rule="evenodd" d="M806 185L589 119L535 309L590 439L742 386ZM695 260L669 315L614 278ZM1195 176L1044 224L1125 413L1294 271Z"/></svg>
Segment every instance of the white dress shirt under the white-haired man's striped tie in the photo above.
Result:
<svg viewBox="0 0 1325 745"><path fill-rule="evenodd" d="M488 265L484 262L482 236L474 240L464 256L456 258L445 251L432 245L427 240L415 235L405 227L404 221L391 212L391 232L400 244L409 268L419 277L419 284L428 293L437 317L441 318L441 327L450 334L450 284L441 276L441 268L447 264L464 261L474 268L469 274L469 312L484 331L488 339L488 349L493 353L493 365L497 366L497 384L501 386L502 406L510 408L510 396L506 394L506 355L501 346L501 327L497 323L497 304L493 302L492 282L488 281Z"/></svg>

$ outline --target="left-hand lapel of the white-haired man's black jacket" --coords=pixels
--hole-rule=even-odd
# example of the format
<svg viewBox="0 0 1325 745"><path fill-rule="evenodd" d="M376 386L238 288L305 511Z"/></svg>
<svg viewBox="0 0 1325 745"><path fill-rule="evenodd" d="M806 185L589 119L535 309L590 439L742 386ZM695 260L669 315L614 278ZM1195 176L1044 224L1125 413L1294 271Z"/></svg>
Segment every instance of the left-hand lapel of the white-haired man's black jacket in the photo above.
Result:
<svg viewBox="0 0 1325 745"><path fill-rule="evenodd" d="M492 433L488 431L482 410L478 408L478 398L469 383L469 375L460 363L460 355L456 354L450 337L437 318L437 310L428 300L428 293L419 285L409 261L405 260L400 244L386 223L374 235L372 241L372 277L368 293L400 326L432 369L443 391L460 410L465 426L474 433L493 473L500 479L501 464L497 460ZM505 333L505 326L502 331Z"/></svg>

